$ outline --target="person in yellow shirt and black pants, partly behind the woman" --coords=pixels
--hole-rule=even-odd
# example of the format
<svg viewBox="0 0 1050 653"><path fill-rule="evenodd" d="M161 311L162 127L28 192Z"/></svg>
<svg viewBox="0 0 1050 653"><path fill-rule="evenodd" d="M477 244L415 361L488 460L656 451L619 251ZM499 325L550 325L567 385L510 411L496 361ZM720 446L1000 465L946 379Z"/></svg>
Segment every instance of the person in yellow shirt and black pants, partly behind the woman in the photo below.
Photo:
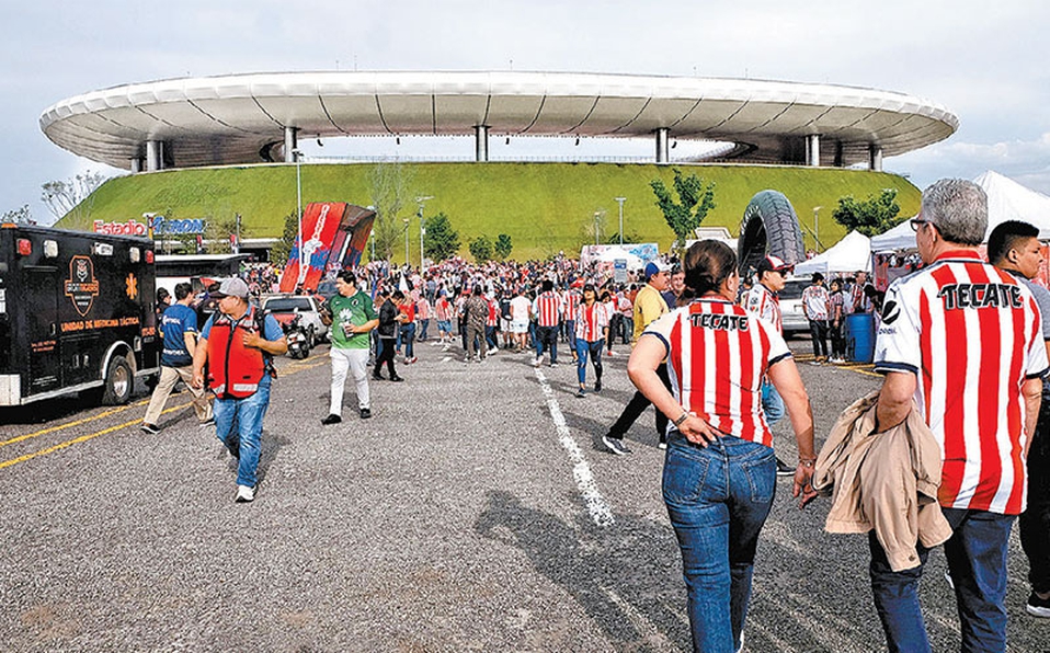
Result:
<svg viewBox="0 0 1050 653"><path fill-rule="evenodd" d="M663 300L660 294L667 289L667 285L671 282L671 267L662 261L651 261L646 265L644 273L647 279L646 286L639 290L635 297L635 333L631 337L631 347L638 344L638 337L641 336L642 331L644 331L650 323L667 312L667 302ZM671 387L671 379L667 377L667 366L665 364L657 366L657 375L665 387ZM650 403L641 390L635 392L630 401L627 402L627 405L624 406L624 412L620 413L620 416L609 426L608 432L602 437L602 444L605 445L606 449L617 456L630 454L630 449L624 444L624 435L627 434L627 429L631 427ZM660 448L665 448L667 446L667 417L659 410L655 412L659 446Z"/></svg>

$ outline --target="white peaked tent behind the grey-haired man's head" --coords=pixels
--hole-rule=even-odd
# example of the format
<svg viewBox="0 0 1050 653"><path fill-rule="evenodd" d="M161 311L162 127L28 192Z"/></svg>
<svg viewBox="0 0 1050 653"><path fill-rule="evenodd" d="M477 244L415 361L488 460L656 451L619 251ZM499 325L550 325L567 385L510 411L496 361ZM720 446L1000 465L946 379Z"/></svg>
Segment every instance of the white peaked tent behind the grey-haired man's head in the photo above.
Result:
<svg viewBox="0 0 1050 653"><path fill-rule="evenodd" d="M1050 197L989 170L973 180L988 195L988 232L1006 220L1024 220L1039 228L1039 240L1050 240ZM915 249L915 233L908 220L871 239L871 251Z"/></svg>

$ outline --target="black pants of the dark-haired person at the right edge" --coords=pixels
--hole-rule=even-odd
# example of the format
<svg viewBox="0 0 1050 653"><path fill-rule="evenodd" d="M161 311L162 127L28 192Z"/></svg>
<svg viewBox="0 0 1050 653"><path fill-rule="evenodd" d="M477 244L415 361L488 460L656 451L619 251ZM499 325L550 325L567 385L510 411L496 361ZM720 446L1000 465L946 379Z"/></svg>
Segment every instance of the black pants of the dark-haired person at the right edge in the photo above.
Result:
<svg viewBox="0 0 1050 653"><path fill-rule="evenodd" d="M1050 399L1046 394L1028 449L1028 508L1019 522L1028 582L1040 594L1050 592Z"/></svg>

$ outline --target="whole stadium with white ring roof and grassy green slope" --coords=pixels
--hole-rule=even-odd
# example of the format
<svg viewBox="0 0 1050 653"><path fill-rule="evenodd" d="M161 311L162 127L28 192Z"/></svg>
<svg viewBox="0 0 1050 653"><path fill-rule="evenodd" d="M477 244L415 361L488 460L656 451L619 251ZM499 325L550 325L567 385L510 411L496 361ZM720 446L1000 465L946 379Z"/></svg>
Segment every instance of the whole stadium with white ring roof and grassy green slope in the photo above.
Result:
<svg viewBox="0 0 1050 653"><path fill-rule="evenodd" d="M403 175L389 216L406 233L416 213L449 217L466 242L511 236L516 259L579 251L618 234L665 248L674 234L649 183L687 169L716 184L705 227L737 233L751 197L784 193L807 247L843 234L837 199L895 188L902 214L918 191L882 160L948 138L958 118L911 95L845 85L742 79L566 72L283 72L184 78L114 87L48 107L41 128L56 145L130 171L104 184L60 226L90 229L160 214L241 216L250 237L274 239L298 203L373 204L376 168ZM300 142L385 137L470 138L473 156L335 160ZM648 161L494 161L491 139L643 139ZM704 153L673 157L676 145ZM683 150L686 148L682 148ZM695 150L695 148L694 148ZM381 160L380 160L381 159ZM416 197L426 197L425 208ZM810 221L812 216L812 221ZM380 219L384 219L380 216ZM812 227L810 227L812 225ZM418 260L415 238L409 260ZM411 248L414 245L414 248ZM403 259L395 249L395 260Z"/></svg>

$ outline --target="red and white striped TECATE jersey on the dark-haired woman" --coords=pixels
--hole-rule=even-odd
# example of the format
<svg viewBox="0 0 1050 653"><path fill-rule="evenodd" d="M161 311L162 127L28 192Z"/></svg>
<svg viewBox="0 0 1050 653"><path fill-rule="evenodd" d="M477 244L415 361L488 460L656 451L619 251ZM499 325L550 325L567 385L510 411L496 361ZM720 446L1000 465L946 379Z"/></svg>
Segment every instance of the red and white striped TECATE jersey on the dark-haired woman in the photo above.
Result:
<svg viewBox="0 0 1050 653"><path fill-rule="evenodd" d="M646 329L667 347L675 399L727 435L773 446L762 377L791 355L766 320L723 299L697 299ZM644 335L644 334L643 334Z"/></svg>

